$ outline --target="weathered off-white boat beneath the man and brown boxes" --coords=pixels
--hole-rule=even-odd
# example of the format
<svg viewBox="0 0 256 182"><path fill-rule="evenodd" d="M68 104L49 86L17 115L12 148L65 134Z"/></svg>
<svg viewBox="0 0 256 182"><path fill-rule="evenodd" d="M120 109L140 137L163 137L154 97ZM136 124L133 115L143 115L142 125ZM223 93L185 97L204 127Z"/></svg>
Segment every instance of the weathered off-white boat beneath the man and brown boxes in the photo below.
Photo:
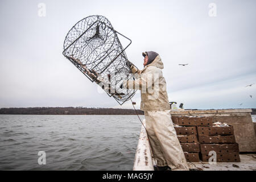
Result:
<svg viewBox="0 0 256 182"><path fill-rule="evenodd" d="M202 171L256 171L256 136L254 123L251 119L251 109L230 110L200 110L200 111L174 111L172 115L205 115L214 116L216 121L227 122L234 126L236 141L240 146L241 162L188 162L189 168L197 168ZM143 120L143 124L146 125ZM134 160L134 171L153 171L155 160L152 159L151 148L144 127L138 140L138 147Z"/></svg>

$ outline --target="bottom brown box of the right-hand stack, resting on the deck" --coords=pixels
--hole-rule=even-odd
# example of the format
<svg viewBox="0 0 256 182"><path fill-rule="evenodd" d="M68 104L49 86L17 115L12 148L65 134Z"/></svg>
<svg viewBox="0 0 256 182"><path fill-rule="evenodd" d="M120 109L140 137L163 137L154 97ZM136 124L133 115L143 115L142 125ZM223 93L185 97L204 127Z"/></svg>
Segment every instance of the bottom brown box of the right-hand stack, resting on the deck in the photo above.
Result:
<svg viewBox="0 0 256 182"><path fill-rule="evenodd" d="M201 154L201 160L203 162L208 162L209 158L212 156L213 155ZM240 156L238 152L229 154L216 154L216 162L240 162Z"/></svg>

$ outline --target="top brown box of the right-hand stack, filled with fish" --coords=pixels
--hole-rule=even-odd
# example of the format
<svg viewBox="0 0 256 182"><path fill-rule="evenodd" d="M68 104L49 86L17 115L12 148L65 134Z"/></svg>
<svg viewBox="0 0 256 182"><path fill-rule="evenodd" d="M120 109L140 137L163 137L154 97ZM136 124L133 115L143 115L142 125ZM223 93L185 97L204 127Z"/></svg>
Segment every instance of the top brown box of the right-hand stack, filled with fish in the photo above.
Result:
<svg viewBox="0 0 256 182"><path fill-rule="evenodd" d="M233 126L216 127L216 126L197 126L199 135L234 135Z"/></svg>

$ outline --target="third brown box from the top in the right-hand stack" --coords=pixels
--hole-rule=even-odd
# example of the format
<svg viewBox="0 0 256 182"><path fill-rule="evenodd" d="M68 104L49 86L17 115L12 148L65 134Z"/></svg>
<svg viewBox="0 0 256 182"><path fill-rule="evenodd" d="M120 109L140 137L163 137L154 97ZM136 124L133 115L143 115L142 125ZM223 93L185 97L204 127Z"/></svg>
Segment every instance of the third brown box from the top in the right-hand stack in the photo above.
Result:
<svg viewBox="0 0 256 182"><path fill-rule="evenodd" d="M239 153L238 143L232 144L200 144L202 154L209 154L210 151L215 151L216 154Z"/></svg>

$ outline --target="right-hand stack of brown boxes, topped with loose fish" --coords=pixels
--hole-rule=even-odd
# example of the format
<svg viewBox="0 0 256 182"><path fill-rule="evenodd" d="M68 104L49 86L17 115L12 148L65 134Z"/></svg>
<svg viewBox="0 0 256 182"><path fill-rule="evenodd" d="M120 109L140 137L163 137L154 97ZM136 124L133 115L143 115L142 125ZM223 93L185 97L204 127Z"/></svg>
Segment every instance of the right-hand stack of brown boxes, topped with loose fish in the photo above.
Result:
<svg viewBox="0 0 256 182"><path fill-rule="evenodd" d="M240 162L239 148L231 125L197 126L201 160L208 162L210 151L216 152L216 162Z"/></svg>

